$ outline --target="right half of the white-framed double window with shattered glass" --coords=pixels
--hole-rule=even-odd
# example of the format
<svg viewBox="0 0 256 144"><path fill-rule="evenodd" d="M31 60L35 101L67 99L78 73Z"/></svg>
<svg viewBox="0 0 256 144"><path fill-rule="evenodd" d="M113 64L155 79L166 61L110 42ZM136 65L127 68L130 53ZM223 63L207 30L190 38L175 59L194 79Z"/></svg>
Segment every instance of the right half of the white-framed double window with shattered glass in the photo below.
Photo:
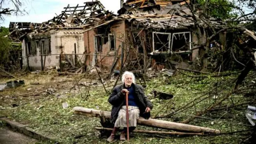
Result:
<svg viewBox="0 0 256 144"><path fill-rule="evenodd" d="M190 52L191 33L190 32L173 33L171 50L174 53Z"/></svg>

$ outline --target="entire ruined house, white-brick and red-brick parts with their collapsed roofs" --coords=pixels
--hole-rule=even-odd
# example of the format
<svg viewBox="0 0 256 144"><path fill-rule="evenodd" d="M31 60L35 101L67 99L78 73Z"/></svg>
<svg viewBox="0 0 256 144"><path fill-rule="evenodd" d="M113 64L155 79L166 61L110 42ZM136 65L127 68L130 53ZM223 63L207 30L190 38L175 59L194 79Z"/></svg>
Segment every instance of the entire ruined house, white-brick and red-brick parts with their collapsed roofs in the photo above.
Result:
<svg viewBox="0 0 256 144"><path fill-rule="evenodd" d="M184 0L126 0L118 14L105 10L100 1L67 6L48 22L31 25L23 35L23 65L36 69L98 66L102 69L161 70L172 61L193 61L199 54L194 17ZM199 12L199 11L197 11ZM201 44L208 25L219 29L213 18L200 18ZM204 41L204 42L202 42ZM170 66L169 66L170 67ZM81 71L81 72L82 72Z"/></svg>

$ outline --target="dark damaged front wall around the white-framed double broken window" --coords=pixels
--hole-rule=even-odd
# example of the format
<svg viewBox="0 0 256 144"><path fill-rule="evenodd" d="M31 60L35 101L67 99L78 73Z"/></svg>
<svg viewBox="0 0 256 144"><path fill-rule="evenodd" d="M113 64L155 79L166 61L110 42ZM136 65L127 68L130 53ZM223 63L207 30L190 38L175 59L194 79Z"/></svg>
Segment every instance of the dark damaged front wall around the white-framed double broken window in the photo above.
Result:
<svg viewBox="0 0 256 144"><path fill-rule="evenodd" d="M194 32L189 29L170 29L170 30L153 30L136 28L135 26L128 26L126 24L127 38L133 42L133 47L138 52L130 52L130 61L138 69L136 55L140 60L140 65L143 66L143 58L140 55L149 54L146 62L150 62L154 69L161 70L169 67L166 59L176 62L187 62L194 60L198 55L198 50L190 51L193 44L198 44L197 37ZM153 38L154 35L154 38ZM143 42L143 39L146 42ZM204 38L205 39L205 38ZM204 40L205 41L205 40ZM143 52L143 45L146 48L146 53ZM154 49L154 51L153 51ZM164 49L164 50L163 50Z"/></svg>

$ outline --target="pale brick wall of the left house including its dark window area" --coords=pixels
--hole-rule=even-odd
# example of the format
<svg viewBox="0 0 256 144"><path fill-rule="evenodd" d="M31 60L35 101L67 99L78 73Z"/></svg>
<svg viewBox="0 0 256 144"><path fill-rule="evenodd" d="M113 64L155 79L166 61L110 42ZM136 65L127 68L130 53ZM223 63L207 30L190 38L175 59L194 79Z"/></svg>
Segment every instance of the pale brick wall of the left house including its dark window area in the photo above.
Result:
<svg viewBox="0 0 256 144"><path fill-rule="evenodd" d="M34 69L42 69L42 65L47 68L48 66L59 66L60 55L74 54L74 44L76 44L76 53L83 54L84 52L84 37L83 34L79 34L82 30L51 30L45 34L34 34L32 39L28 38L22 42L22 55L23 66L30 66ZM29 36L28 36L29 37ZM25 42L26 41L26 42ZM34 44L33 44L34 43ZM39 43L39 45L37 44ZM28 44L33 49L36 46L36 54L29 54ZM41 49L50 50L49 52L43 52ZM28 56L28 62L27 57ZM45 60L45 62L44 62Z"/></svg>

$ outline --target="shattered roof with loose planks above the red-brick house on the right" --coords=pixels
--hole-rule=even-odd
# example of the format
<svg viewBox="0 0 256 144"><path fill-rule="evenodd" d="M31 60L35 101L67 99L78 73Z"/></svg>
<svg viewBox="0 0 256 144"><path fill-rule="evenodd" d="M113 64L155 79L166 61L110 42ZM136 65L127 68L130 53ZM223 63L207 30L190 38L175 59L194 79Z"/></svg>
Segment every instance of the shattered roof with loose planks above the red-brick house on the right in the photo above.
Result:
<svg viewBox="0 0 256 144"><path fill-rule="evenodd" d="M187 28L195 24L193 17L199 20L200 26L208 26L206 22L213 28L223 26L214 18L199 18L199 11L192 14L189 3L190 0L128 0L118 14L137 27L145 28Z"/></svg>

